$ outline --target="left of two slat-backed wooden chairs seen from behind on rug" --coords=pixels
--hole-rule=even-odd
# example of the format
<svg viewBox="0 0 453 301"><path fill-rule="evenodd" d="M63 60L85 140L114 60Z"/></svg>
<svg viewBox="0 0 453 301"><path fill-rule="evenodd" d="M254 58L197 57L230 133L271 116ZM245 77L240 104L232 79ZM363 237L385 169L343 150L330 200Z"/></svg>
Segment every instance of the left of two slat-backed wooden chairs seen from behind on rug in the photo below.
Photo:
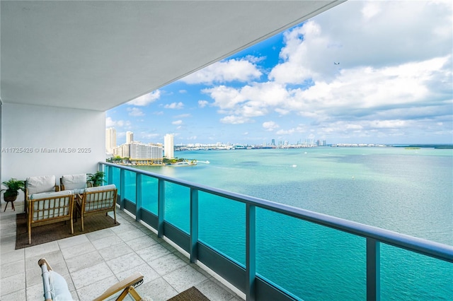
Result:
<svg viewBox="0 0 453 301"><path fill-rule="evenodd" d="M71 234L74 234L72 221L74 212L74 194L69 190L32 194L28 199L27 231L28 244L31 244L31 228L69 220Z"/></svg>

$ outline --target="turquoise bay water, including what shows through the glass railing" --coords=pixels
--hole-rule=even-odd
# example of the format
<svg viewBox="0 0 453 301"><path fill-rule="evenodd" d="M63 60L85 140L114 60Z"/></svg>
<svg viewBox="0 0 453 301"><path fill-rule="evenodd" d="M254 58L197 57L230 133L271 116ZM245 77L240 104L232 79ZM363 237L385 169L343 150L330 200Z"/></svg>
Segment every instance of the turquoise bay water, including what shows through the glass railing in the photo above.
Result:
<svg viewBox="0 0 453 301"><path fill-rule="evenodd" d="M140 169L453 245L451 149L299 148L175 155L199 163ZM186 231L188 195L187 188L166 184L166 220ZM154 192L146 199L144 207L156 212ZM245 264L245 206L203 193L199 199L200 240ZM366 299L364 238L260 209L257 233L257 271L263 278L303 300ZM453 300L452 264L385 244L381 255L382 300Z"/></svg>

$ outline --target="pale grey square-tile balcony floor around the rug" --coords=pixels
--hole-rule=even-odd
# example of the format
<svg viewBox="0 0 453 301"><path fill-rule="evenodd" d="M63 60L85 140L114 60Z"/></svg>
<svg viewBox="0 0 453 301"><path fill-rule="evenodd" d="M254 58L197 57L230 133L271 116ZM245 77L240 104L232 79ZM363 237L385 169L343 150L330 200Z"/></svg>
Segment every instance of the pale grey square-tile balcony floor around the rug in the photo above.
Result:
<svg viewBox="0 0 453 301"><path fill-rule="evenodd" d="M16 250L16 213L23 211L23 202L15 202L16 211L8 206L3 212L5 203L1 205L0 300L44 300L42 257L64 276L74 300L92 300L136 271L144 275L137 291L145 300L168 300L192 286L213 301L245 297L190 264L186 255L124 211L117 211L117 227Z"/></svg>

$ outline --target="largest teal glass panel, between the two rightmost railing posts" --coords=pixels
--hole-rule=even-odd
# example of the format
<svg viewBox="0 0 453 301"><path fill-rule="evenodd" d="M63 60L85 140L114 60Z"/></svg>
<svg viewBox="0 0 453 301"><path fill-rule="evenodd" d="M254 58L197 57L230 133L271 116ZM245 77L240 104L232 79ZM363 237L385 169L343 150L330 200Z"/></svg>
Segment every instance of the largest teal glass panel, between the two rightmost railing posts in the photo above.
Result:
<svg viewBox="0 0 453 301"><path fill-rule="evenodd" d="M256 271L305 300L366 300L366 240L262 208Z"/></svg>

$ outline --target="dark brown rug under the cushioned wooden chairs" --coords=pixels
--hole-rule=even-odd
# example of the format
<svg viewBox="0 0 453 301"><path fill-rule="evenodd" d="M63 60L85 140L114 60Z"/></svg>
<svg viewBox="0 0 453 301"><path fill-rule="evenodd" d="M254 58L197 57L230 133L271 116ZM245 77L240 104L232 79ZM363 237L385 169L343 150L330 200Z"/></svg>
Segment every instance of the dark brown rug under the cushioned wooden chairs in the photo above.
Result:
<svg viewBox="0 0 453 301"><path fill-rule="evenodd" d="M67 220L64 222L53 223L49 225L40 225L31 228L31 244L28 244L27 218L25 213L19 213L16 216L16 249L32 247L37 244L45 244L54 240L62 240L63 238L81 235L105 228L115 227L120 223L113 223L113 218L104 214L96 216L87 216L84 218L84 231L81 229L81 219L77 218L74 222L74 234L71 234L71 224Z"/></svg>

